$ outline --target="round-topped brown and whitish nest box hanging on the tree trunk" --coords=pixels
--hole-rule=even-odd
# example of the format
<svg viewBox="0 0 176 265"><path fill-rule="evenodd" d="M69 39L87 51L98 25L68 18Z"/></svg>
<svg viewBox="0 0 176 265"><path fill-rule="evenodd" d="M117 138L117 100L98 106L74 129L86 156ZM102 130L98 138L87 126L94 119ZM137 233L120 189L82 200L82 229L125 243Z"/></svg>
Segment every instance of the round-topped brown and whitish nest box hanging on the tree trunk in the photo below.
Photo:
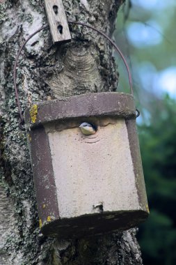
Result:
<svg viewBox="0 0 176 265"><path fill-rule="evenodd" d="M147 218L133 96L50 100L27 109L25 122L44 235L104 234Z"/></svg>

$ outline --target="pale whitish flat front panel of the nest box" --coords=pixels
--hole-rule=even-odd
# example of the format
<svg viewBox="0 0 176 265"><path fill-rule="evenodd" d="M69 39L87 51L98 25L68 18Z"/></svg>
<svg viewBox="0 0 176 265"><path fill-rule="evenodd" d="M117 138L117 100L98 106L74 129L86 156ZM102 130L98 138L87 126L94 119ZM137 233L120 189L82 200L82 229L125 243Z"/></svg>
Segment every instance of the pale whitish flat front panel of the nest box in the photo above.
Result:
<svg viewBox="0 0 176 265"><path fill-rule="evenodd" d="M97 213L99 204L105 212L140 209L125 119L97 119L94 135L79 123L45 126L60 218Z"/></svg>

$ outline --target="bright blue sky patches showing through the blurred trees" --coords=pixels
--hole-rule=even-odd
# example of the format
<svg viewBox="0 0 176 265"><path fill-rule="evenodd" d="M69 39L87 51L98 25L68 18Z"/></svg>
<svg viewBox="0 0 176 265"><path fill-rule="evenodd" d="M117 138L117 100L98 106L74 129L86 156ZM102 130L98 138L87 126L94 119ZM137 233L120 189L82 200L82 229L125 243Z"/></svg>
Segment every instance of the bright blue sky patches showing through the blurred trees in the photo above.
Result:
<svg viewBox="0 0 176 265"><path fill-rule="evenodd" d="M147 47L162 45L167 36L170 18L176 9L176 0L132 0L131 17L140 10L139 20L131 21L127 26L127 38L136 49L145 50ZM137 9L136 9L137 8ZM146 15L150 14L150 15ZM168 16L167 16L168 14ZM140 22L140 16L145 15L148 20ZM138 62L138 73L141 83L146 86L150 82L152 91L162 94L168 93L176 99L176 61L157 70L151 61Z"/></svg>

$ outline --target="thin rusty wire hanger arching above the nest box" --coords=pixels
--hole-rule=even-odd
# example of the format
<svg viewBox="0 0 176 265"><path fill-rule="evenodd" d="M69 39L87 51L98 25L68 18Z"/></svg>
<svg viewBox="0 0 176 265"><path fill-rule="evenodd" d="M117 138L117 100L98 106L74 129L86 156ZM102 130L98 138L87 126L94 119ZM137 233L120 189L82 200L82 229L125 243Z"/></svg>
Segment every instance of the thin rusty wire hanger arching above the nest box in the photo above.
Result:
<svg viewBox="0 0 176 265"><path fill-rule="evenodd" d="M87 27L89 29L92 29L93 31L96 31L100 35L104 36L104 38L106 38L106 40L109 40L109 42L111 43L111 45L113 45L113 47L118 52L118 54L120 54L120 57L122 58L122 61L125 63L125 67L127 68L127 74L128 74L128 78L129 78L130 91L131 91L131 94L133 95L132 79L131 79L131 73L130 73L130 70L129 70L129 66L127 64L127 61L125 59L125 56L122 54L122 52L120 51L119 47L113 42L113 40L111 40L111 38L109 38L109 36L107 36L102 31L99 31L99 29L96 29L95 27L92 27L92 26L90 26L88 24L85 24L85 23L82 23L82 22L74 22L74 21L68 21L68 24L77 24L77 25L81 25L83 27ZM15 58L15 64L14 64L14 67L13 67L13 84L14 84L14 89L15 89L15 97L16 97L16 100L17 100L17 107L18 107L18 110L19 110L19 119L20 119L20 121L19 121L19 128L21 130L24 129L22 127L24 125L24 117L23 117L23 114L22 114L22 107L21 107L20 102L19 102L19 94L18 94L18 91L17 91L17 61L18 61L19 55L21 54L21 52L22 52L24 46L26 45L26 43L33 36L35 36L35 34L37 34L38 32L42 31L43 29L47 29L48 27L49 27L49 25L44 26L44 27L41 27L40 29L38 29L37 31L35 31L33 34L31 34L29 36L29 38L27 38L25 40L25 42L23 43L23 45L19 48L19 52L17 53L17 56Z"/></svg>

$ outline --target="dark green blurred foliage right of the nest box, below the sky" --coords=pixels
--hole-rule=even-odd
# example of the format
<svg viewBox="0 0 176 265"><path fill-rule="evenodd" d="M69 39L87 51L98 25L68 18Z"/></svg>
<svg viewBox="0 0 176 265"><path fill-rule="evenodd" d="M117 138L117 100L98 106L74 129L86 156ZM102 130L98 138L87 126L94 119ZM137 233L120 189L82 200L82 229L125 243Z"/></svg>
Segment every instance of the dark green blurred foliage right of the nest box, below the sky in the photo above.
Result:
<svg viewBox="0 0 176 265"><path fill-rule="evenodd" d="M176 101L153 102L150 125L138 126L150 218L138 239L145 265L176 264Z"/></svg>

